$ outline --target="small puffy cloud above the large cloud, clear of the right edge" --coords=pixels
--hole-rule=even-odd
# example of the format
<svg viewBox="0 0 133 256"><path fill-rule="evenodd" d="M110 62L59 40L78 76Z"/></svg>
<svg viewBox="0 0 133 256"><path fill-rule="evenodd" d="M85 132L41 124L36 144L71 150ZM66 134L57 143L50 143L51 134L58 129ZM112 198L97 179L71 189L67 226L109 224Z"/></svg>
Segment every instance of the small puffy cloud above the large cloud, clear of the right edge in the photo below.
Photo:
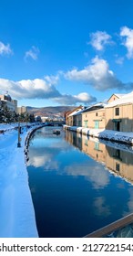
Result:
<svg viewBox="0 0 133 256"><path fill-rule="evenodd" d="M103 50L107 44L112 44L111 36L109 36L105 31L91 33L90 38L91 40L88 42L88 44L97 50Z"/></svg>

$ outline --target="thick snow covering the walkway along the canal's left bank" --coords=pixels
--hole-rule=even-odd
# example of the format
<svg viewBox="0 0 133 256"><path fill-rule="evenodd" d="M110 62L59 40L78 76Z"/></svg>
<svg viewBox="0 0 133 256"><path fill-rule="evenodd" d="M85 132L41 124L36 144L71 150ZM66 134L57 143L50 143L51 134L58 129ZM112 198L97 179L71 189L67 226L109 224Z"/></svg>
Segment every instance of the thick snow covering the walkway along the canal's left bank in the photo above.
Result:
<svg viewBox="0 0 133 256"><path fill-rule="evenodd" d="M23 128L21 147L17 147L16 125L0 125L0 130L5 130L0 134L0 237L36 238L36 218L24 154L27 132L26 127Z"/></svg>

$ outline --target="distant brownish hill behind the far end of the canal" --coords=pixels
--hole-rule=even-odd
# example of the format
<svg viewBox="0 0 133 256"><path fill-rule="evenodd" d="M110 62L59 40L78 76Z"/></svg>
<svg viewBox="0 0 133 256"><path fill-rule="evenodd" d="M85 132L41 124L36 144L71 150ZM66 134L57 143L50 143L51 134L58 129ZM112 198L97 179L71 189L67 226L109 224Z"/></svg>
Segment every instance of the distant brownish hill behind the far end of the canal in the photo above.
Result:
<svg viewBox="0 0 133 256"><path fill-rule="evenodd" d="M40 116L53 116L64 117L64 113L74 109L74 106L56 106L56 107L43 107L34 108L27 106L27 112L34 113Z"/></svg>

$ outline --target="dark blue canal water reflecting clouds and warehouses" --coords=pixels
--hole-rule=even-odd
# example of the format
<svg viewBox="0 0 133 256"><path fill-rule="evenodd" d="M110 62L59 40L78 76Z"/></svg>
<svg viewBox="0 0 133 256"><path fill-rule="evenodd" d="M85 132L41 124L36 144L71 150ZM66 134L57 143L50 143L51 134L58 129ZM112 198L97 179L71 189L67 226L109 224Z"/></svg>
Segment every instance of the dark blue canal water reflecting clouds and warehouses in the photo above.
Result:
<svg viewBox="0 0 133 256"><path fill-rule="evenodd" d="M39 237L84 237L132 213L132 148L54 129L37 130L29 144Z"/></svg>

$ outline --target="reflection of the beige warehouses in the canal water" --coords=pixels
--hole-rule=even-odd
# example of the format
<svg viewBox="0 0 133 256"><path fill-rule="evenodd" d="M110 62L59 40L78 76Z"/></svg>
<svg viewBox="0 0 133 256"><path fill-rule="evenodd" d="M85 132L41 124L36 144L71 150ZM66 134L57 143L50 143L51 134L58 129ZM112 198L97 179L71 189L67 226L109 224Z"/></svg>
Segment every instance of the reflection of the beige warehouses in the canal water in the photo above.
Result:
<svg viewBox="0 0 133 256"><path fill-rule="evenodd" d="M133 184L133 150L131 147L109 142L106 144L106 141L100 143L98 139L69 131L66 131L65 136L69 144L73 144L89 157L104 164L107 170L114 175L121 176Z"/></svg>

